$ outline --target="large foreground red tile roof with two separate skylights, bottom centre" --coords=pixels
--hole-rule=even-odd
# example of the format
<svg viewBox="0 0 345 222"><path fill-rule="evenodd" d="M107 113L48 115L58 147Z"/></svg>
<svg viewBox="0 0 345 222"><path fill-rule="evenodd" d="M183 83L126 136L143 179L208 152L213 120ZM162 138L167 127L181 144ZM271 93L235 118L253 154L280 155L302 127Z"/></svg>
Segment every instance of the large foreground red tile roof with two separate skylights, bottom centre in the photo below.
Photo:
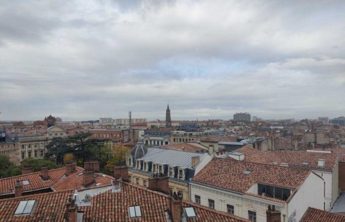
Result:
<svg viewBox="0 0 345 222"><path fill-rule="evenodd" d="M91 206L81 207L80 210L84 211L83 222L122 222L130 220L128 217L129 206L139 205L142 217L138 221L165 222L165 212L169 209L169 201L167 194L138 185L121 183L120 192L105 191L91 198ZM215 211L189 201L182 201L182 206L193 206L195 209L197 217L187 218L188 222L247 222L246 219Z"/></svg>

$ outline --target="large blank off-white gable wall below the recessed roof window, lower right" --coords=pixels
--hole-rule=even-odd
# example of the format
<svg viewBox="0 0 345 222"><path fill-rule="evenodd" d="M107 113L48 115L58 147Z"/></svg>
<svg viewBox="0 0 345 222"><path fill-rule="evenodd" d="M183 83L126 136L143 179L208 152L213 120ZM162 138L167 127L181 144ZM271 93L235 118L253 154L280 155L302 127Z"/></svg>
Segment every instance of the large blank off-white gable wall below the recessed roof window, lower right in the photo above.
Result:
<svg viewBox="0 0 345 222"><path fill-rule="evenodd" d="M311 173L288 203L286 221L294 212L296 212L296 221L300 221L308 207L323 210L323 202L323 180Z"/></svg>

